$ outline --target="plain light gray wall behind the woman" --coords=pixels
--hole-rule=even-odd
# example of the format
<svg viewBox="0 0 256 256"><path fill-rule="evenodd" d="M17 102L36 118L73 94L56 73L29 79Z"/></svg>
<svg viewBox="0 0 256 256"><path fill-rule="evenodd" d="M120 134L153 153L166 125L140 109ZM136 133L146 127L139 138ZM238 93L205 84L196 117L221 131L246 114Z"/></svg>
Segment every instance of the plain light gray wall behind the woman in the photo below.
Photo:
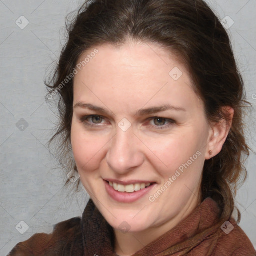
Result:
<svg viewBox="0 0 256 256"><path fill-rule="evenodd" d="M64 43L65 16L81 2L0 0L0 255L36 232L51 232L52 224L80 216L88 200L84 188L77 194L71 187L63 188L65 172L48 151L47 141L57 119L56 109L45 102L43 83L46 69L52 69ZM228 15L234 22L228 32L247 99L254 106L256 0L207 2L220 19ZM20 16L29 21L23 29L19 26L25 20ZM224 21L231 25L231 19ZM253 120L255 108L247 115L246 136L256 151ZM246 163L248 178L236 200L242 212L240 226L256 247L255 163L251 153Z"/></svg>

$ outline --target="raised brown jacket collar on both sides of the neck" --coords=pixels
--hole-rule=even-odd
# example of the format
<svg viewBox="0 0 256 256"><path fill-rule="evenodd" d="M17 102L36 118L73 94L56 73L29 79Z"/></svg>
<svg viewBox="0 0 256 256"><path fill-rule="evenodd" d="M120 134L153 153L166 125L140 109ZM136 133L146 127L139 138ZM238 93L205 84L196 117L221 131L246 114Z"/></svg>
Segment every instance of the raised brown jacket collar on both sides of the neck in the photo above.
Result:
<svg viewBox="0 0 256 256"><path fill-rule="evenodd" d="M143 255L185 255L205 237L219 228L219 207L207 197L174 228L136 252ZM113 256L114 232L90 199L82 215L84 255ZM177 254L176 254L177 253Z"/></svg>

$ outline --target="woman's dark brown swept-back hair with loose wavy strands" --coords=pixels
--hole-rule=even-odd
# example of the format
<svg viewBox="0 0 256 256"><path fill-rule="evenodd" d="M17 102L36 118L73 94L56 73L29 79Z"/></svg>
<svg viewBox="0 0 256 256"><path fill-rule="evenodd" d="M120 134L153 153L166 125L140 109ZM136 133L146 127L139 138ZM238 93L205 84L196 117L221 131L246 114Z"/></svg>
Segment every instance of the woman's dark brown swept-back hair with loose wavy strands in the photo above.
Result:
<svg viewBox="0 0 256 256"><path fill-rule="evenodd" d="M120 45L127 38L157 43L186 65L209 121L228 118L221 111L222 106L234 109L227 139L219 154L205 160L201 183L201 200L214 199L221 209L219 218L228 219L234 210L242 173L246 178L243 156L249 155L249 147L244 138L242 117L244 106L249 103L245 100L243 80L228 34L209 6L202 0L90 0L67 24L67 31L68 40L54 75L45 82L48 99L54 93L59 96L60 119L50 142L58 137L56 156L62 167L77 171L70 155L73 79L65 79L73 73L81 54L104 43ZM239 211L237 221L240 221Z"/></svg>

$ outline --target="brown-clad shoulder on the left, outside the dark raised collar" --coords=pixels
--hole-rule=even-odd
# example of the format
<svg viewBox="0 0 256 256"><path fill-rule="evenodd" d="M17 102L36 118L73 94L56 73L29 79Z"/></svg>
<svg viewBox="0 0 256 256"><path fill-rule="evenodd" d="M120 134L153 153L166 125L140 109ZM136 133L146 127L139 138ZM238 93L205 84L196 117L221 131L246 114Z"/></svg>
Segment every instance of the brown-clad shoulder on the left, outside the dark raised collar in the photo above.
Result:
<svg viewBox="0 0 256 256"><path fill-rule="evenodd" d="M63 249L70 250L74 243L79 248L82 245L80 224L80 217L59 222L53 225L52 233L36 233L28 240L19 242L8 256L62 255Z"/></svg>

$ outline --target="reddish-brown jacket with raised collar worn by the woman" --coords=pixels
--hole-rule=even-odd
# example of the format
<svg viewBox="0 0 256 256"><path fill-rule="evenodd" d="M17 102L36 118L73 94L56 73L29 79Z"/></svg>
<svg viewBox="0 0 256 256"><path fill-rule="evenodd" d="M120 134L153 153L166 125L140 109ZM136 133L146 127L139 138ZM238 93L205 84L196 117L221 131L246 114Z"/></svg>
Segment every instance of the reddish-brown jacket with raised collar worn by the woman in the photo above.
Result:
<svg viewBox="0 0 256 256"><path fill-rule="evenodd" d="M235 220L218 221L218 212L217 203L206 198L178 225L133 256L255 256ZM116 256L113 245L113 229L90 199L81 218L56 224L51 234L34 234L18 243L9 256Z"/></svg>

